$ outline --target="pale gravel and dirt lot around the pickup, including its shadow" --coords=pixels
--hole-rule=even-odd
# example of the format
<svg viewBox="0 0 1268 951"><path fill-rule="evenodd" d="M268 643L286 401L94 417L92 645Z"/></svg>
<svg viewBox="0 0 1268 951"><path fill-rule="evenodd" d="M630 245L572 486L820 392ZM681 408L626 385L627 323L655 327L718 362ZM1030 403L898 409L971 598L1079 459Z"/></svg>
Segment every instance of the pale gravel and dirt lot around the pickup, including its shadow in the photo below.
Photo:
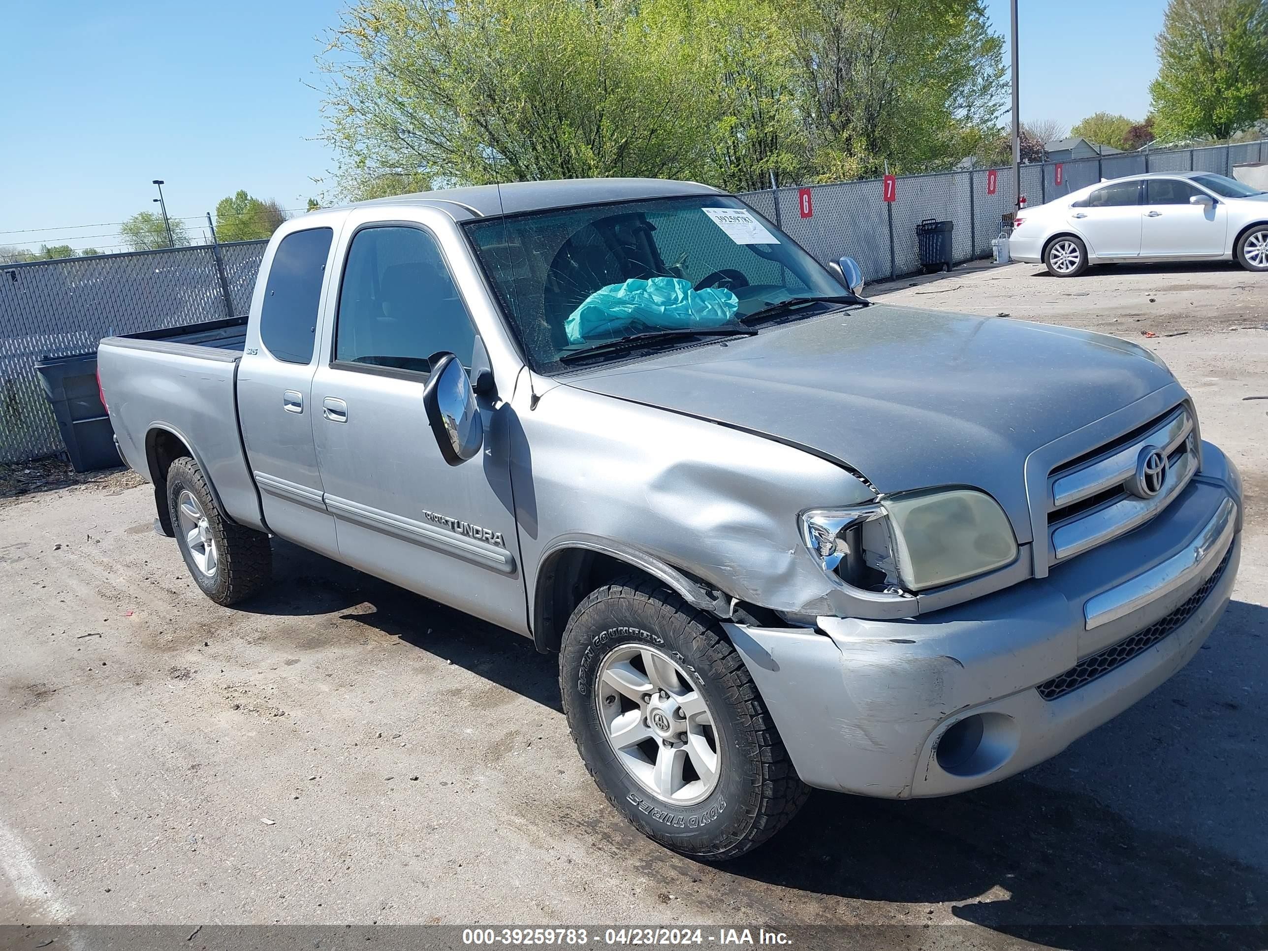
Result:
<svg viewBox="0 0 1268 951"><path fill-rule="evenodd" d="M1263 924L1268 401L1246 397L1268 397L1268 280L1040 273L870 294L1145 342L1249 489L1208 649L1056 760L942 800L815 794L770 846L699 865L609 809L526 640L280 541L273 592L218 607L148 487L104 479L0 501L0 922L905 926L852 938L875 947Z"/></svg>

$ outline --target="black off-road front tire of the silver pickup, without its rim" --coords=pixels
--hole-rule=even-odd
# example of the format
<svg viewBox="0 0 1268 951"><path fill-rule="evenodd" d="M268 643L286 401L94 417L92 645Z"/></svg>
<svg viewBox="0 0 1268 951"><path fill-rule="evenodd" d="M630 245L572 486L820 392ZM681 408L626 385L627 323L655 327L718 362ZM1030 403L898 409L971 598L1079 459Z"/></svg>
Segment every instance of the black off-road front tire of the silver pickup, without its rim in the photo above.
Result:
<svg viewBox="0 0 1268 951"><path fill-rule="evenodd" d="M716 786L700 803L676 805L652 795L607 741L595 700L598 671L615 648L631 643L671 657L713 713L721 765ZM640 832L676 852L704 861L737 858L784 828L809 795L718 623L658 581L620 578L577 606L559 649L559 692L598 789Z"/></svg>

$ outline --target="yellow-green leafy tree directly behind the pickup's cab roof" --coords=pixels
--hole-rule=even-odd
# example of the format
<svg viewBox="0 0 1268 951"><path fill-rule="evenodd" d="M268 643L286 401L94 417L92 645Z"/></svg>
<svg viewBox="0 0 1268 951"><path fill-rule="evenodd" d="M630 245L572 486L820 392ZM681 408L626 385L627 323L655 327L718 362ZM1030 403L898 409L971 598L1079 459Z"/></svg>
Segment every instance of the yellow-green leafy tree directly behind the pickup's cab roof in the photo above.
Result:
<svg viewBox="0 0 1268 951"><path fill-rule="evenodd" d="M322 58L340 185L697 170L694 51L653 39L635 0L361 0Z"/></svg>

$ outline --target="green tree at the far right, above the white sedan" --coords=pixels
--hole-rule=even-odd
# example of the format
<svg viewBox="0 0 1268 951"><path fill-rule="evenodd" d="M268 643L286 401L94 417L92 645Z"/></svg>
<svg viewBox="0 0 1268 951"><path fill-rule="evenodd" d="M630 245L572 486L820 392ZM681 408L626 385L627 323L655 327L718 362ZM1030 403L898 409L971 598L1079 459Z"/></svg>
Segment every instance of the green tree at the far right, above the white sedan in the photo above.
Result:
<svg viewBox="0 0 1268 951"><path fill-rule="evenodd" d="M1163 142L1230 138L1268 114L1268 0L1170 0L1155 43Z"/></svg>

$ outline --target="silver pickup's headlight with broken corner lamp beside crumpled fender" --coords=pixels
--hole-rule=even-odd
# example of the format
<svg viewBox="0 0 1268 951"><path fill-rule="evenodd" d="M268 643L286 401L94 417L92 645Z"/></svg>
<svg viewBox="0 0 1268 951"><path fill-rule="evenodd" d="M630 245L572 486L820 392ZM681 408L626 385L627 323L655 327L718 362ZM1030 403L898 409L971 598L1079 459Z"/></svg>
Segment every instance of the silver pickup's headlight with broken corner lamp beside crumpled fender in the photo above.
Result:
<svg viewBox="0 0 1268 951"><path fill-rule="evenodd" d="M967 488L890 496L800 516L801 538L825 572L866 591L926 591L1017 558L1008 516Z"/></svg>

